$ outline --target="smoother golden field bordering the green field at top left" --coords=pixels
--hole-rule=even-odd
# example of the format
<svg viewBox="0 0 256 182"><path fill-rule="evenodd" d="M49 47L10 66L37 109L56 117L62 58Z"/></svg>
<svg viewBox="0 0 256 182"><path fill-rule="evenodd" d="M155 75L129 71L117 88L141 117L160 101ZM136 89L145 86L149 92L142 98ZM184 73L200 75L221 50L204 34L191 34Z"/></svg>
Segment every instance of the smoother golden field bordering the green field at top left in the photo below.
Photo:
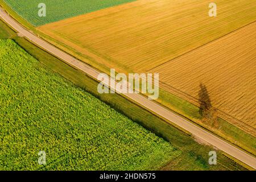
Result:
<svg viewBox="0 0 256 182"><path fill-rule="evenodd" d="M141 0L39 27L92 60L145 72L256 20L255 0ZM85 60L86 61L86 60Z"/></svg>

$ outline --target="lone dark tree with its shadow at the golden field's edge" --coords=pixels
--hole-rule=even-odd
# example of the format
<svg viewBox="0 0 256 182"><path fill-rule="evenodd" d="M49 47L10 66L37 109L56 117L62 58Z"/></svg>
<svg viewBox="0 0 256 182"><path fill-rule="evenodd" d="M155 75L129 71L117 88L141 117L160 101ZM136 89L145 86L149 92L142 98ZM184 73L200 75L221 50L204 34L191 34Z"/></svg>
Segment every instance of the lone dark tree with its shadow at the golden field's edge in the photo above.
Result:
<svg viewBox="0 0 256 182"><path fill-rule="evenodd" d="M200 101L199 114L203 118L203 122L210 122L212 125L215 125L217 121L216 109L212 106L207 87L202 83L200 83L198 96Z"/></svg>

